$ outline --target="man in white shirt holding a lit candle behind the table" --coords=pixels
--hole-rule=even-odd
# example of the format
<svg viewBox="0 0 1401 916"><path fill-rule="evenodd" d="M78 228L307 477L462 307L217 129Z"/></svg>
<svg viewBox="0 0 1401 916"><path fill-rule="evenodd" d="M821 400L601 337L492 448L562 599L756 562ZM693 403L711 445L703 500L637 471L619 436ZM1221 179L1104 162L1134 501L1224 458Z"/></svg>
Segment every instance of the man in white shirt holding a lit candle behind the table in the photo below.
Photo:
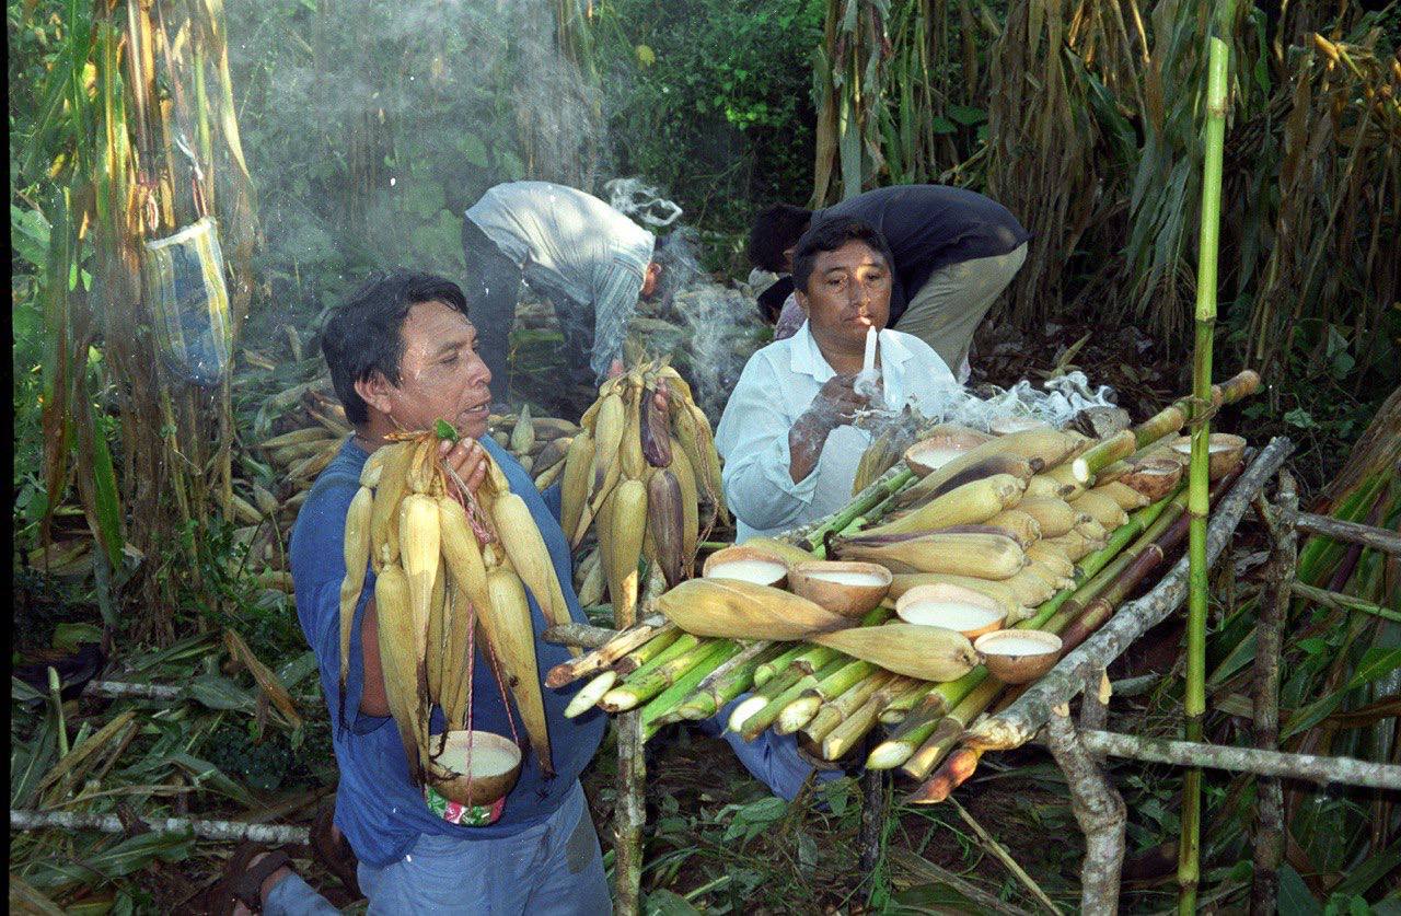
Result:
<svg viewBox="0 0 1401 916"><path fill-rule="evenodd" d="M870 408L856 375L871 328L880 329L876 366L885 409L913 405L939 416L962 398L927 343L885 329L891 277L885 240L863 220L827 220L799 240L793 280L807 322L750 357L716 430L737 541L796 528L850 501L871 438L855 426Z"/></svg>

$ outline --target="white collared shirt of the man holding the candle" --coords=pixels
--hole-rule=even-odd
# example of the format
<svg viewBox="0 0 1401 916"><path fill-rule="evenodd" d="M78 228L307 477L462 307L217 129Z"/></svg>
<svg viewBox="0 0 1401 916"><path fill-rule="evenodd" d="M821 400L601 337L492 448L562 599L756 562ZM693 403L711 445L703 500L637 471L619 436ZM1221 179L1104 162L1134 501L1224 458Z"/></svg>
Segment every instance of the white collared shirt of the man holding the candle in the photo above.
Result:
<svg viewBox="0 0 1401 916"><path fill-rule="evenodd" d="M962 396L939 354L899 331L880 332L880 371L885 405L892 410L908 403L939 417L946 403ZM724 458L724 499L736 515L737 541L796 528L852 500L856 466L871 440L866 430L836 427L811 473L797 483L789 473L789 430L834 375L806 324L745 364L715 437Z"/></svg>

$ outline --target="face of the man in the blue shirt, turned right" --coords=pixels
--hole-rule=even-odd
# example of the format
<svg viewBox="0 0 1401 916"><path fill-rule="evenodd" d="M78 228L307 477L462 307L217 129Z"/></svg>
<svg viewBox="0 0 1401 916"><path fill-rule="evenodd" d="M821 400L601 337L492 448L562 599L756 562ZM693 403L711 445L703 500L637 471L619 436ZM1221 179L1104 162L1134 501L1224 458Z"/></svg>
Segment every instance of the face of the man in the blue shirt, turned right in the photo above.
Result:
<svg viewBox="0 0 1401 916"><path fill-rule="evenodd" d="M476 328L443 303L417 303L399 329L399 384L387 389L389 417L405 430L447 420L481 438L492 402L492 371L476 352Z"/></svg>

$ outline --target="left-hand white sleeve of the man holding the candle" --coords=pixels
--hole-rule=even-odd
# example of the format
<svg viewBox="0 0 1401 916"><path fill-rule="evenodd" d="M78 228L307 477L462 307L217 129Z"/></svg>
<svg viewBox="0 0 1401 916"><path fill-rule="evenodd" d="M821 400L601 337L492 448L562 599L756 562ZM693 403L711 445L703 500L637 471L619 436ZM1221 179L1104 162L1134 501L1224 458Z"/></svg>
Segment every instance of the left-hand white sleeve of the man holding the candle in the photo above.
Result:
<svg viewBox="0 0 1401 916"><path fill-rule="evenodd" d="M766 363L751 361L716 430L716 447L724 458L724 497L734 514L757 529L793 524L817 492L817 468L796 483L789 472L794 417L775 403L779 385Z"/></svg>

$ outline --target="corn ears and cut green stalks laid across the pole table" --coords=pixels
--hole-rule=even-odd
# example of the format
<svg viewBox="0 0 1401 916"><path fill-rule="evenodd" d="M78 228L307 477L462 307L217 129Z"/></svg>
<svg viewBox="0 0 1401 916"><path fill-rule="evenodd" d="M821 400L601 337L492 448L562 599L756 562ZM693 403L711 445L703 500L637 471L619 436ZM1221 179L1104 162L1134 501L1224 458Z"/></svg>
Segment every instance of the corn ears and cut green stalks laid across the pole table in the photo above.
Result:
<svg viewBox="0 0 1401 916"><path fill-rule="evenodd" d="M1213 396L1233 402L1258 384L1243 373ZM1063 646L1073 647L1161 563L1170 546L1164 538L1180 539L1181 465L1150 447L1182 426L1185 410L1178 402L1098 443L1056 430L982 437L913 486L912 471L892 471L801 539L792 536L814 545L811 550L765 538L745 542L751 556L783 567L825 556L828 546L887 566L892 587L885 605L856 626L778 588L696 580L661 597L658 609L668 620L649 618L625 630L581 664L552 671L551 683L594 675L573 712L595 702L609 712L642 706L644 737L671 721L713 716L751 693L731 713L731 728L747 738L769 727L799 733L824 759L842 758L877 724L909 721L901 749L871 765L904 763L937 730L941 751L922 754L925 769L915 770L927 776L961 735L961 724L950 731L953 723L971 721L1003 682L982 665L967 665L962 634L888 625L890 599L919 584L972 590L1005 608L1009 626L1061 632ZM1062 468L1062 486L1079 492L1024 496L1033 479ZM846 534L895 506L902 515ZM920 655L920 664L909 664L906 653Z"/></svg>

